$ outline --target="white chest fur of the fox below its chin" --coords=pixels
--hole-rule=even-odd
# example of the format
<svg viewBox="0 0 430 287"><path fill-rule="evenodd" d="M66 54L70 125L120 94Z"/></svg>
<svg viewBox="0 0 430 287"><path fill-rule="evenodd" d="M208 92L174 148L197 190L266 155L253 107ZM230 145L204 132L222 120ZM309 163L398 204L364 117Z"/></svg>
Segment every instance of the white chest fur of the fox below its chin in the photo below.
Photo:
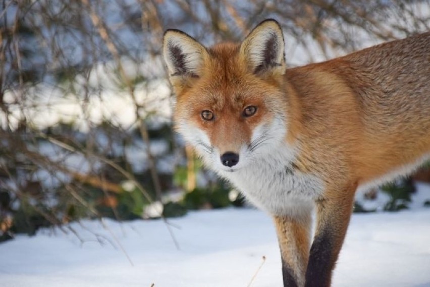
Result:
<svg viewBox="0 0 430 287"><path fill-rule="evenodd" d="M258 157L235 172L218 171L250 201L271 214L300 216L324 190L314 175L294 170L287 148Z"/></svg>

